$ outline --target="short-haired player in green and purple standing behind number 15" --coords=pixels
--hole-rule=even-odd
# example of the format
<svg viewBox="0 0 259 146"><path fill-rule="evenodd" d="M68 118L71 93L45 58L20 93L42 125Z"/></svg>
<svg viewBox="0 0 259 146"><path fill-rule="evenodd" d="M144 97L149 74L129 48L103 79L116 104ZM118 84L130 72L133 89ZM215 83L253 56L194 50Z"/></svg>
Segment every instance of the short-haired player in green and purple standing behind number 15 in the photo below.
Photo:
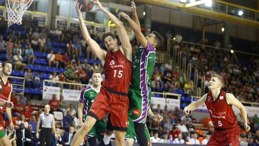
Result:
<svg viewBox="0 0 259 146"><path fill-rule="evenodd" d="M88 114L92 103L94 102L95 97L100 91L102 74L99 71L95 71L92 76L92 83L89 87L86 87L81 92L78 105L78 119L80 127L84 124L84 120ZM87 140L90 146L97 145L96 138L98 141L101 141L105 134L106 122L102 118L99 122L95 123L94 127L88 132Z"/></svg>

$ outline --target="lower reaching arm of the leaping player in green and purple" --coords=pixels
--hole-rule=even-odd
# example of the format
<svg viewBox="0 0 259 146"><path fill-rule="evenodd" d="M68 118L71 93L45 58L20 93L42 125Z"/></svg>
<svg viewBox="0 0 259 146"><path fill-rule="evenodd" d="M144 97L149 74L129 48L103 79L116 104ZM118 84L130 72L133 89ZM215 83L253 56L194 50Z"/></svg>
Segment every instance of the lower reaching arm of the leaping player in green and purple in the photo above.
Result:
<svg viewBox="0 0 259 146"><path fill-rule="evenodd" d="M119 13L119 18L123 17L124 19L127 19L127 21L129 22L129 25L131 27L131 29L133 30L133 32L135 33L137 40L139 41L139 43L146 48L147 47L147 38L142 34L140 27L138 26L137 23L135 23L130 17L129 15L125 14L124 12L120 12Z"/></svg>

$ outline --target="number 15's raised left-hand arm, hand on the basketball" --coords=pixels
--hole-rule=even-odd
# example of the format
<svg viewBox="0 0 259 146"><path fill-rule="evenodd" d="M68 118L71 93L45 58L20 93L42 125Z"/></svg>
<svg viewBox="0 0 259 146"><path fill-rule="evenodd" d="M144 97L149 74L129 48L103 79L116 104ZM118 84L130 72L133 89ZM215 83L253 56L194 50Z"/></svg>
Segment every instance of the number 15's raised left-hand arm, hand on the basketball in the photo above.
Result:
<svg viewBox="0 0 259 146"><path fill-rule="evenodd" d="M84 37L84 40L86 40L87 44L90 46L91 51L94 53L94 55L99 58L99 60L102 61L102 65L104 65L105 63L105 57L106 57L106 51L102 50L100 48L100 46L97 44L97 42L95 42L89 35L89 32L84 24L84 19L82 17L82 13L81 13L81 8L82 5L79 7L79 3L77 2L76 4L76 10L77 10L77 14L78 14L78 19L79 19L79 24L80 24L80 29L82 32L82 35Z"/></svg>

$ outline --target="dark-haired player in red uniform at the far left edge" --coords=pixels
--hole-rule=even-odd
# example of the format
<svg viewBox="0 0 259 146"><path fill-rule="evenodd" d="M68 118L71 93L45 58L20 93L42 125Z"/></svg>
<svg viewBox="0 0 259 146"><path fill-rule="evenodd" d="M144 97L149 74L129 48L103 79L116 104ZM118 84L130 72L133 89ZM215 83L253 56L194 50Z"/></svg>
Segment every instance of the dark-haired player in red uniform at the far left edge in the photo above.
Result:
<svg viewBox="0 0 259 146"><path fill-rule="evenodd" d="M8 80L8 76L12 72L11 62L6 61L3 65L0 63L0 71L2 71L0 76L0 144L4 146L11 146L11 142L8 136L6 136L6 132L4 130L4 119L2 116L2 112L6 110L7 118L9 120L9 130L10 132L13 132L14 124L12 120L11 108L13 108L14 104L11 102L12 85Z"/></svg>

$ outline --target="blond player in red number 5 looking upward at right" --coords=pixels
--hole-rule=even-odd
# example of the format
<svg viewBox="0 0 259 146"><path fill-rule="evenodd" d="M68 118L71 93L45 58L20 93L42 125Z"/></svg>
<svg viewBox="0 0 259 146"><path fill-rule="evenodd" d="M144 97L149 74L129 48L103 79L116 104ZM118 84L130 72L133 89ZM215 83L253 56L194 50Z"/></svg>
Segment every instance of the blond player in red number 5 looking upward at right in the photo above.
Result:
<svg viewBox="0 0 259 146"><path fill-rule="evenodd" d="M221 76L212 74L209 83L208 88L210 89L210 92L203 95L200 100L186 106L184 108L184 114L187 116L190 111L205 104L215 128L207 145L238 146L239 127L232 105L240 110L244 121L245 131L248 132L250 127L247 124L245 107L233 94L221 91L221 88L224 86L224 80Z"/></svg>

